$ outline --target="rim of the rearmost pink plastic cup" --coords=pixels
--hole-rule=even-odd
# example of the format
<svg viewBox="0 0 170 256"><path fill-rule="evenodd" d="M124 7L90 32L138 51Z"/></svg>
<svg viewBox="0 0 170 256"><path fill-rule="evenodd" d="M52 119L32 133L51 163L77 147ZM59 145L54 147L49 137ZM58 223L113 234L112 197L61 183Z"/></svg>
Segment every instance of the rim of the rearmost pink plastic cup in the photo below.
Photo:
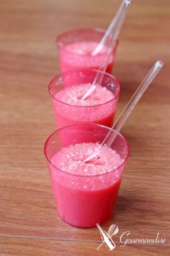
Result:
<svg viewBox="0 0 170 256"><path fill-rule="evenodd" d="M66 50L66 48L64 48L63 46L61 46L61 44L59 43L60 39L63 38L63 36L66 36L68 33L73 33L73 32L82 32L84 30L89 30L91 32L97 32L97 33L102 33L104 35L105 30L103 30L102 28L98 28L98 27L94 27L94 28L90 28L90 27L84 27L84 28L76 28L73 30L66 30L65 32L57 35L57 37L55 38L55 43L57 44L58 48L60 48L62 51L66 51L69 54L76 54L72 51L68 51ZM118 43L118 39L116 40L115 43L115 47L113 49L113 51L115 50L115 48L117 48L117 43ZM98 53L96 56L102 56L104 53ZM81 56L91 56L91 54L77 54L77 55L81 55ZM92 56L95 57L95 56Z"/></svg>

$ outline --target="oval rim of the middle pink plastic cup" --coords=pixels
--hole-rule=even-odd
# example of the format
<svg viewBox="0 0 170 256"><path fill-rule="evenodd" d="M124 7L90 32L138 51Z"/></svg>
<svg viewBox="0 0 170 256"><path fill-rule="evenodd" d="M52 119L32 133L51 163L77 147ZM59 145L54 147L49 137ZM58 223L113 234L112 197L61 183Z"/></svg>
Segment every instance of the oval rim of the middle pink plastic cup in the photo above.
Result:
<svg viewBox="0 0 170 256"><path fill-rule="evenodd" d="M117 94L114 95L114 97L113 97L111 100L107 101L107 102L100 103L100 104L97 104L97 105L91 105L91 106L71 105L71 104L68 104L68 103L66 103L66 102L63 102L63 101L58 100L58 98L55 98L55 96L53 95L53 93L51 92L50 89L51 89L51 87L53 86L53 82L55 81L55 79L56 79L57 77L60 77L62 74L69 74L70 72L85 72L85 71L92 71L92 72L96 72L96 73L97 73L97 72L100 72L100 73L102 73L102 74L103 74L103 73L106 74L108 77L113 78L113 79L115 80L115 82L117 82L117 86L119 87ZM114 75L109 74L109 73L107 73L107 72L99 71L99 70L97 70L97 69L71 69L71 70L68 70L68 71L66 71L66 72L60 72L60 73L56 74L56 75L53 77L53 79L50 80L50 82L49 82L49 84L48 84L48 92L50 93L50 96L51 96L55 101L58 101L58 102L60 102L60 103L63 103L63 104L65 104L65 105L67 105L67 106L79 107L79 108L91 108L91 107L96 107L96 106L102 106L102 105L104 105L104 104L107 104L107 103L109 103L109 102L112 102L112 101L114 101L116 98L119 97L120 91L121 91L121 83L120 83L120 80L117 79L117 77L115 77Z"/></svg>

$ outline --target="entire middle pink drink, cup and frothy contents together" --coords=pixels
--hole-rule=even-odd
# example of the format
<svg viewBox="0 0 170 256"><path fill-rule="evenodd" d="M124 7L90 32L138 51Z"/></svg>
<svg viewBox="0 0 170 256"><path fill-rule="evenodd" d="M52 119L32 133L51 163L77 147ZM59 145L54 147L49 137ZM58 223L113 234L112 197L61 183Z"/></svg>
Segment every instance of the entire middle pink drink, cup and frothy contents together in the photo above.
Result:
<svg viewBox="0 0 170 256"><path fill-rule="evenodd" d="M49 91L58 128L88 122L112 126L120 94L120 82L115 77L104 73L102 85L81 101L96 74L97 71L89 69L71 70L50 82Z"/></svg>

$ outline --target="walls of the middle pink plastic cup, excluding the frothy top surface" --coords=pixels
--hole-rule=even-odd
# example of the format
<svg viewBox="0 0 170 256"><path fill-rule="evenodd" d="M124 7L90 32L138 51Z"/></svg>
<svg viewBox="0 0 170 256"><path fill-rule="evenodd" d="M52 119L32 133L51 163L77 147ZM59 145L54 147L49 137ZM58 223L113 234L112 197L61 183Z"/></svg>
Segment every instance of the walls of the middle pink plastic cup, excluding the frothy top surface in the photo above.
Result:
<svg viewBox="0 0 170 256"><path fill-rule="evenodd" d="M49 93L53 102L55 121L58 128L77 123L96 123L112 127L118 98L120 82L111 74L104 73L102 87L113 93L111 101L96 106L73 106L58 101L56 93L73 85L92 83L97 70L76 69L56 75L49 84ZM102 72L101 72L102 74Z"/></svg>

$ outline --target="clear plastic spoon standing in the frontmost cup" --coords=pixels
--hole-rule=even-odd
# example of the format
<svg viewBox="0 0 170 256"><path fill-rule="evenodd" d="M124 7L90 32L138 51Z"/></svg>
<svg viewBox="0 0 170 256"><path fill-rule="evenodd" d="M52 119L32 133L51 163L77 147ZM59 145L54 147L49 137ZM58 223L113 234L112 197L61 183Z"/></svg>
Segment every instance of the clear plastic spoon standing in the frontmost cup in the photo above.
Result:
<svg viewBox="0 0 170 256"><path fill-rule="evenodd" d="M135 93L133 94L132 98L130 98L130 101L123 109L122 113L118 117L115 124L113 124L112 128L109 130L107 136L104 138L102 143L99 145L99 148L92 153L89 158L86 158L86 160L83 161L83 163L86 163L91 160L91 158L94 158L99 153L100 148L102 145L107 145L107 147L110 147L112 143L115 140L115 137L117 136L117 133L122 128L123 124L125 124L125 121L130 116L131 112L133 111L133 108L135 108L136 104L142 97L143 93L145 93L146 89L151 85L151 82L156 77L156 74L161 70L161 68L164 66L163 61L156 61L155 64L153 64L153 67L150 69L148 74L146 74L146 77L143 79L143 81L138 86L138 89L135 90ZM115 131L114 135L112 135L112 130Z"/></svg>

